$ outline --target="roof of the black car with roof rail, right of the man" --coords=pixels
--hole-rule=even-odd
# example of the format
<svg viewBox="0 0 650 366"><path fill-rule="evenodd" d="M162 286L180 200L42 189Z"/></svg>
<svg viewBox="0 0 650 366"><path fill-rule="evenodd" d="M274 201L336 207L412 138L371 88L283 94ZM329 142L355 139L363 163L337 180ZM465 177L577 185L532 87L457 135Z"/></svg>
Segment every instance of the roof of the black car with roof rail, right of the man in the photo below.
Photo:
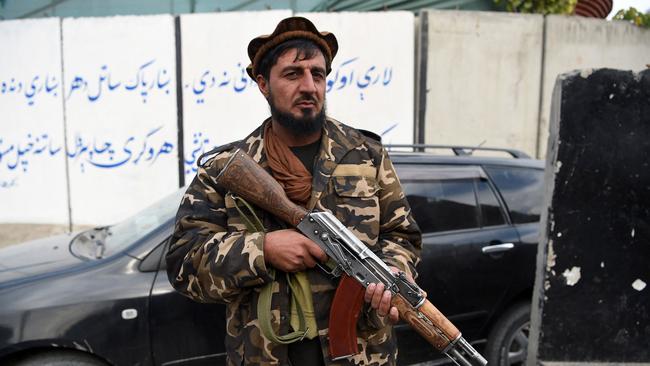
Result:
<svg viewBox="0 0 650 366"><path fill-rule="evenodd" d="M430 152L389 151L391 160L398 164L444 165L499 165L544 169L544 161L537 159L500 158L474 155L437 155Z"/></svg>

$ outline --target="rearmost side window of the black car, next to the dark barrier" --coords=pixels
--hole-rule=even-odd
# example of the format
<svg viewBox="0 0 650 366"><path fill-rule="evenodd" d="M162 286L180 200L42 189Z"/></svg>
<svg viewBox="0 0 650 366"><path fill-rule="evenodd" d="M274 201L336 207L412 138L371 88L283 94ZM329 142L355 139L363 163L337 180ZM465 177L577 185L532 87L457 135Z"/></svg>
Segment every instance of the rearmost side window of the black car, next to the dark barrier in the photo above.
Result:
<svg viewBox="0 0 650 366"><path fill-rule="evenodd" d="M544 196L544 171L486 166L485 170L506 201L514 224L539 221Z"/></svg>

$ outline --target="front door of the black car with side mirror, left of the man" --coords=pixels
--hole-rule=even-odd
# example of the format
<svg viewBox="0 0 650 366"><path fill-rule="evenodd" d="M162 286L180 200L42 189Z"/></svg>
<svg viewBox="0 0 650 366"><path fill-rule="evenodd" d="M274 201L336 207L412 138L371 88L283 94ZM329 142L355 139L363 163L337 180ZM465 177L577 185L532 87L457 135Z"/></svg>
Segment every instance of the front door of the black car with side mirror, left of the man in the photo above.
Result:
<svg viewBox="0 0 650 366"><path fill-rule="evenodd" d="M167 241L150 254L159 263L150 297L154 364L225 365L225 307L201 304L176 292L167 279L166 252Z"/></svg>

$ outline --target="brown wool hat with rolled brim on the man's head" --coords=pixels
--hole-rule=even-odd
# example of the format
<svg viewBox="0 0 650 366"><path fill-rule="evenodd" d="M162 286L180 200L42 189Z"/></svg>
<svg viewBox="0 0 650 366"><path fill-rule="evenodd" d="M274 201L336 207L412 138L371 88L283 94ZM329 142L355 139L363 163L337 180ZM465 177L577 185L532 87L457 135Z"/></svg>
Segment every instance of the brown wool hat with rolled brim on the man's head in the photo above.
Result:
<svg viewBox="0 0 650 366"><path fill-rule="evenodd" d="M257 68L264 55L280 43L295 38L304 38L316 43L323 51L323 56L325 56L328 65L327 73L329 74L331 70L329 65L332 64L332 60L339 49L336 37L330 32L319 32L314 23L307 18L291 17L281 20L273 33L253 38L250 41L248 44L248 57L251 59L251 64L246 67L248 75L255 80L255 75L259 74Z"/></svg>

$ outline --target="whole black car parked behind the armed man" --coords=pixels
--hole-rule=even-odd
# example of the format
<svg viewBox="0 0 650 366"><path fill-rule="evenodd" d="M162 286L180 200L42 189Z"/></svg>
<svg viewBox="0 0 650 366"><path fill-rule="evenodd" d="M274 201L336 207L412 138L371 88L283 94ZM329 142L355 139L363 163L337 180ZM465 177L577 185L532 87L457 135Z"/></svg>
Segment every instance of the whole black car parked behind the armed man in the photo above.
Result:
<svg viewBox="0 0 650 366"><path fill-rule="evenodd" d="M418 283L487 356L523 364L543 164L392 152L423 232ZM224 306L174 292L164 254L181 189L113 226L0 250L0 364L225 364ZM400 364L448 360L406 325Z"/></svg>

